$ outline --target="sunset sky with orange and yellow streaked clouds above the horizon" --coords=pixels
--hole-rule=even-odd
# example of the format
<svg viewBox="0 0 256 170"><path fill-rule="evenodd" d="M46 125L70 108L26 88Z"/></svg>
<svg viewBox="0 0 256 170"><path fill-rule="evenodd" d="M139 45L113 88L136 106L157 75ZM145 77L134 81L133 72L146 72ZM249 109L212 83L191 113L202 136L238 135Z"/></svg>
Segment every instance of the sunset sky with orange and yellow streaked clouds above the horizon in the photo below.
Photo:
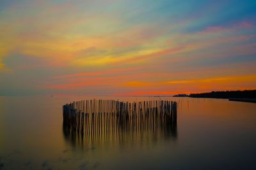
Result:
<svg viewBox="0 0 256 170"><path fill-rule="evenodd" d="M256 89L256 1L1 0L0 96Z"/></svg>

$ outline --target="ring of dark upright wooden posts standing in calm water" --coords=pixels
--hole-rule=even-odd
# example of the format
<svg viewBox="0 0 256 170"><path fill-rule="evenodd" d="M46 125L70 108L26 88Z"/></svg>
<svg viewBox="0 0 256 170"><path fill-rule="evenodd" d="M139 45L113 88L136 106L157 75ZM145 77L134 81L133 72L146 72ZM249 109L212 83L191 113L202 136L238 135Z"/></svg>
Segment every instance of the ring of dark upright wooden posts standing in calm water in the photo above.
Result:
<svg viewBox="0 0 256 170"><path fill-rule="evenodd" d="M128 103L93 99L63 106L63 128L81 138L157 129L172 131L176 125L177 103L173 101Z"/></svg>

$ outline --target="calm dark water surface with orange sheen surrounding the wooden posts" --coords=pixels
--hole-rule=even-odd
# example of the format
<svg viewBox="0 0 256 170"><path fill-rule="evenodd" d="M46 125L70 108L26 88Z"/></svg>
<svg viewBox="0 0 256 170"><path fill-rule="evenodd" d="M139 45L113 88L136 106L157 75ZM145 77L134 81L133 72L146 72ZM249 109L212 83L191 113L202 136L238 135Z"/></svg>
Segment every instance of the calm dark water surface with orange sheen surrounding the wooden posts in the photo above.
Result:
<svg viewBox="0 0 256 170"><path fill-rule="evenodd" d="M179 104L175 132L81 140L62 118L80 99L93 97L0 97L0 169L256 169L256 104L162 97Z"/></svg>

